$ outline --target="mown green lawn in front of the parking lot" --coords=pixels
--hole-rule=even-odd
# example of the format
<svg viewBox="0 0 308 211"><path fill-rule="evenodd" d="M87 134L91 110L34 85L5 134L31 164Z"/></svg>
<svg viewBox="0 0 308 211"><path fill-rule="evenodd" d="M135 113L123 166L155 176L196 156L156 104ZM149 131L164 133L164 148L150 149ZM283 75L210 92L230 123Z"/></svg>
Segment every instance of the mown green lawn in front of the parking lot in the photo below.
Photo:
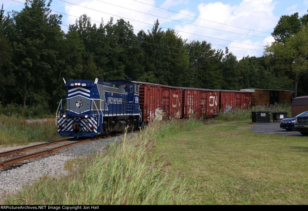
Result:
<svg viewBox="0 0 308 211"><path fill-rule="evenodd" d="M184 170L191 204L308 204L308 137L254 133L250 122L164 137L154 154Z"/></svg>

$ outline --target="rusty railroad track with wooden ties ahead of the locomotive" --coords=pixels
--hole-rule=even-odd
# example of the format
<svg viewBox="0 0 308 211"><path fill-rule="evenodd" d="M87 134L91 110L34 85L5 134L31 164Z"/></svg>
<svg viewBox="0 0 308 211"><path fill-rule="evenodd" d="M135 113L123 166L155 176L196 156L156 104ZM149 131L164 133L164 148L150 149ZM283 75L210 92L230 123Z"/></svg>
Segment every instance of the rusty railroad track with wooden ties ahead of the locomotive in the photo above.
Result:
<svg viewBox="0 0 308 211"><path fill-rule="evenodd" d="M136 131L139 132L139 131ZM19 149L13 149L0 153L0 173L10 169L15 169L26 163L37 161L44 157L50 157L57 154L57 150L66 148L75 144L80 144L88 141L94 141L102 138L117 136L123 133L114 133L108 136L100 136L83 140L69 138L58 141L51 141L43 144L32 145Z"/></svg>

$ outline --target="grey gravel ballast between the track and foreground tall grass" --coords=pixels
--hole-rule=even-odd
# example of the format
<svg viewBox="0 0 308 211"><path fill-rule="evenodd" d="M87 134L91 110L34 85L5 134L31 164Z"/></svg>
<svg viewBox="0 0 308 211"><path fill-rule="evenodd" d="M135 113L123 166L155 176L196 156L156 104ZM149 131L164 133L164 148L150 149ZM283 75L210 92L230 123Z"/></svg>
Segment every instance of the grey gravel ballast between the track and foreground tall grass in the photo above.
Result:
<svg viewBox="0 0 308 211"><path fill-rule="evenodd" d="M94 152L102 152L108 143L113 143L115 140L121 141L123 138L124 135L120 135L73 145L58 150L59 153L54 156L45 157L38 161L22 165L16 169L1 172L0 197L18 193L18 190L22 190L23 185L31 185L44 175L52 177L68 174L69 171L64 169L64 165L67 161L73 160L76 157L85 157Z"/></svg>

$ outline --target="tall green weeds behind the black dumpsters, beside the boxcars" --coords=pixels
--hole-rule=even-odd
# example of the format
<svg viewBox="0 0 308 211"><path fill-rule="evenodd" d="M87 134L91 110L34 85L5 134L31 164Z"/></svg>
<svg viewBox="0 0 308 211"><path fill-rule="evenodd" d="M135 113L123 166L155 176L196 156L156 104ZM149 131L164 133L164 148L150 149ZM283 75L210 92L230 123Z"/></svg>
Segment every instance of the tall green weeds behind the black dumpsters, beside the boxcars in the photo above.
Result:
<svg viewBox="0 0 308 211"><path fill-rule="evenodd" d="M275 104L271 106L253 106L251 109L235 109L230 112L219 113L217 120L223 121L251 121L251 112L270 111L270 119L273 121L273 112L288 112L287 117L292 117L291 104Z"/></svg>

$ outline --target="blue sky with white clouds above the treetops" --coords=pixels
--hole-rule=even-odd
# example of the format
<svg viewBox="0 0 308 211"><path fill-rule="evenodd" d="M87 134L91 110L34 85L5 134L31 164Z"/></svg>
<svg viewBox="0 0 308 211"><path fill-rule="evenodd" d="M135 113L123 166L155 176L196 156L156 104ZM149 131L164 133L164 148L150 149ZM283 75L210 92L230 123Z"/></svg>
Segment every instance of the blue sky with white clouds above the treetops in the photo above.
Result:
<svg viewBox="0 0 308 211"><path fill-rule="evenodd" d="M4 10L20 11L24 0L0 0L0 4ZM63 25L73 24L82 14L97 25L101 20L107 23L111 16L114 20L122 17L132 24L135 34L151 30L158 18L163 30L174 29L188 42L205 40L215 49L227 46L241 59L261 56L264 46L274 41L270 33L279 18L308 13L308 0L53 0L51 9L63 13ZM62 29L67 31L67 26Z"/></svg>

